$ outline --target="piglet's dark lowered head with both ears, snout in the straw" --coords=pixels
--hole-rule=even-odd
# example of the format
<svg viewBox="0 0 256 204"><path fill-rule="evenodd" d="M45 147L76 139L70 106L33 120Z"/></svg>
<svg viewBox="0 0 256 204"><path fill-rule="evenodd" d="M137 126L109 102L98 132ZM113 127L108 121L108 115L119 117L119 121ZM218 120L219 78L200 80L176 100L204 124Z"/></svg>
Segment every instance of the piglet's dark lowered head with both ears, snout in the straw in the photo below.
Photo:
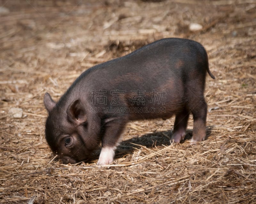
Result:
<svg viewBox="0 0 256 204"><path fill-rule="evenodd" d="M45 135L52 151L58 154L64 163L75 164L88 159L92 151L99 146L100 127L96 125L96 118L91 118L94 127L88 125L86 104L74 99L71 104L60 101L57 105L50 94L46 93L44 105L49 113Z"/></svg>

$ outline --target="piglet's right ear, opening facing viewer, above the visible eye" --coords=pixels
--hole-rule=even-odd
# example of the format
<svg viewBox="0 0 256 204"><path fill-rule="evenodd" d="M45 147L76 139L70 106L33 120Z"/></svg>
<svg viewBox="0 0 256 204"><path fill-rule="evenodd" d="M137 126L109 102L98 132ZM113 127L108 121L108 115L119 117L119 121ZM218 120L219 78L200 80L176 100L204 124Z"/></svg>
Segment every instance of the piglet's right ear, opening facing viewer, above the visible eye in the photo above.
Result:
<svg viewBox="0 0 256 204"><path fill-rule="evenodd" d="M87 120L85 108L79 99L74 100L68 107L68 120L75 125L80 125Z"/></svg>

